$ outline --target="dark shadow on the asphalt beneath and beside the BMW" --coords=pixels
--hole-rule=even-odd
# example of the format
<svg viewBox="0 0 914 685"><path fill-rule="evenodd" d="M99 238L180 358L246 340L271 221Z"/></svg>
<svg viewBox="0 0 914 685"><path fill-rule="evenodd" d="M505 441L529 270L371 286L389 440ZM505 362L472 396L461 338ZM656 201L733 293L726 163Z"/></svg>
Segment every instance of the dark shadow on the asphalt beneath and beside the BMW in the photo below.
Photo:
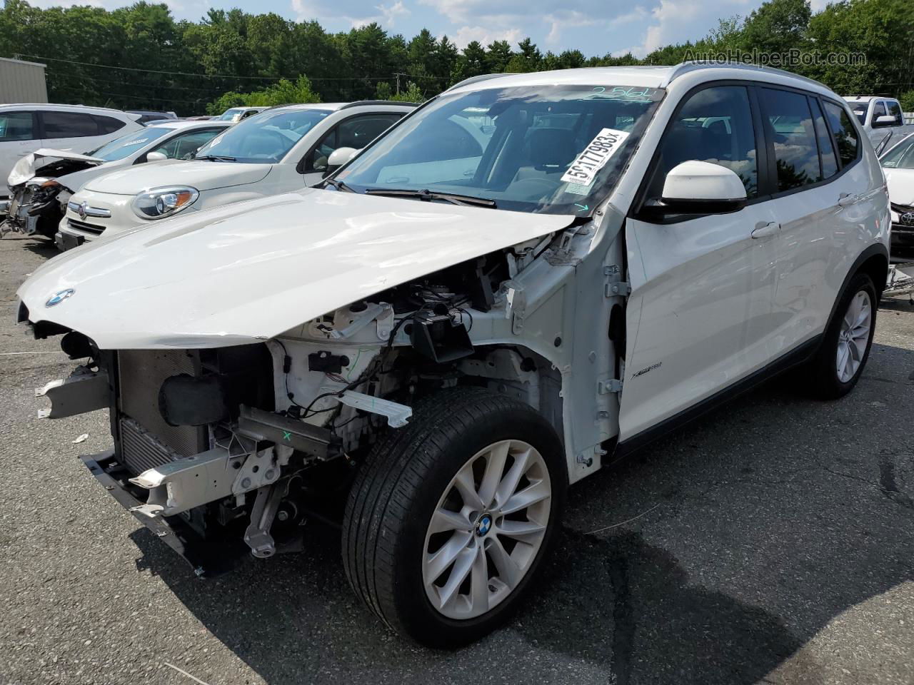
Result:
<svg viewBox="0 0 914 685"><path fill-rule="evenodd" d="M872 379L841 401L769 384L587 479L535 600L458 651L381 627L352 595L330 529L312 528L305 553L211 581L144 529L133 540L144 567L271 685L748 685L846 609L914 579L910 427L874 408L911 406L912 370L914 353L877 345ZM586 532L651 504L638 522ZM826 681L814 662L803 669L803 682Z"/></svg>

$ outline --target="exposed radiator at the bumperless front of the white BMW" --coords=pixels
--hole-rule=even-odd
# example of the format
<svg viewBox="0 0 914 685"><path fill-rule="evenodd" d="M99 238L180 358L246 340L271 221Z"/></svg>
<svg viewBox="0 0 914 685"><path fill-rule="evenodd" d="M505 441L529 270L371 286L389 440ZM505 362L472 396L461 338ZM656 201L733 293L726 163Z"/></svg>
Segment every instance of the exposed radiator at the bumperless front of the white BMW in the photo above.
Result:
<svg viewBox="0 0 914 685"><path fill-rule="evenodd" d="M206 427L169 426L159 412L159 388L177 374L198 375L199 356L186 350L118 353L121 458L134 473L206 448Z"/></svg>

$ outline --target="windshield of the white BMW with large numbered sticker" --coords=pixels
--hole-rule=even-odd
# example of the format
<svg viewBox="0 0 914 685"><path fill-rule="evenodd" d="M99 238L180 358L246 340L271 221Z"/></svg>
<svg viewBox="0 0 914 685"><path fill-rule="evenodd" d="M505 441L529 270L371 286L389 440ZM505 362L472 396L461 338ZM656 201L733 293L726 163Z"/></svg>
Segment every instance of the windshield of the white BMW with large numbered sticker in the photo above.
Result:
<svg viewBox="0 0 914 685"><path fill-rule="evenodd" d="M515 211L587 212L618 181L663 96L546 85L443 95L336 178L356 192L428 190Z"/></svg>

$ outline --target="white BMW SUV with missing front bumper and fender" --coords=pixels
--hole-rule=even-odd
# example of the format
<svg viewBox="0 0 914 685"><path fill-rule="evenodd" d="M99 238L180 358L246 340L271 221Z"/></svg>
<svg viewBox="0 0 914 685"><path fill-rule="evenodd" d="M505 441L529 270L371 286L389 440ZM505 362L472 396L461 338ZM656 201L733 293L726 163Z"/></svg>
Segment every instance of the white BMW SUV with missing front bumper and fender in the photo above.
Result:
<svg viewBox="0 0 914 685"><path fill-rule="evenodd" d="M888 231L872 146L820 83L502 75L323 188L51 260L18 318L89 359L46 413L111 410L113 449L83 460L197 574L338 517L371 611L454 646L536 596L569 483L793 366L849 392Z"/></svg>

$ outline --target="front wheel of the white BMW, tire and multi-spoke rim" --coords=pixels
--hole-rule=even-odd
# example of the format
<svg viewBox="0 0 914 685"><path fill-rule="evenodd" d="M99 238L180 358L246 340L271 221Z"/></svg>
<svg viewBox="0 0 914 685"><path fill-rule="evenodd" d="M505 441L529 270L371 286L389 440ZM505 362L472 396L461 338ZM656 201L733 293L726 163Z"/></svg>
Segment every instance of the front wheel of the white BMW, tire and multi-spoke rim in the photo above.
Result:
<svg viewBox="0 0 914 685"><path fill-rule="evenodd" d="M532 407L480 388L431 395L356 476L345 573L400 634L466 644L522 606L555 543L567 485L561 441Z"/></svg>

